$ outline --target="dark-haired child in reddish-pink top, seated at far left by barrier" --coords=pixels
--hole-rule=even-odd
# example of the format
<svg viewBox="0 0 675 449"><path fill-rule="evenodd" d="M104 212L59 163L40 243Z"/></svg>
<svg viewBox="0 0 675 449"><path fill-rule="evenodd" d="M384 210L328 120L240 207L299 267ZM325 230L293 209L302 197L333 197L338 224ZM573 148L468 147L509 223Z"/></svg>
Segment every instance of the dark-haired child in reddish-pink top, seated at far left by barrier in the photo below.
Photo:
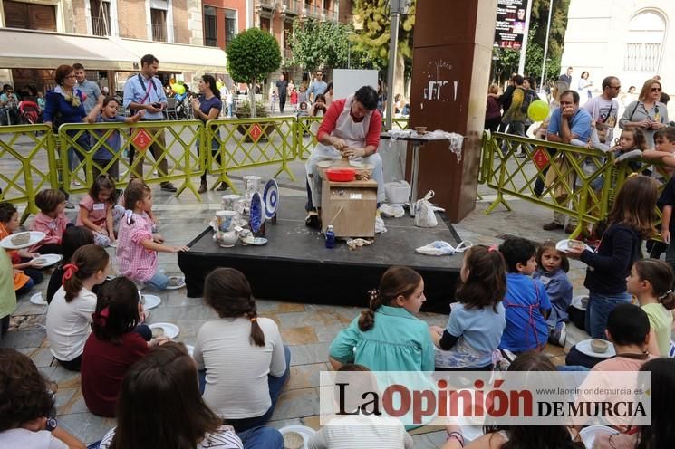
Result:
<svg viewBox="0 0 675 449"><path fill-rule="evenodd" d="M46 236L42 241L31 247L31 253L61 254L61 239L70 220L63 214L65 210L65 195L60 190L48 188L41 190L35 196L35 205L40 212L35 215L30 225L31 231L39 231Z"/></svg>

